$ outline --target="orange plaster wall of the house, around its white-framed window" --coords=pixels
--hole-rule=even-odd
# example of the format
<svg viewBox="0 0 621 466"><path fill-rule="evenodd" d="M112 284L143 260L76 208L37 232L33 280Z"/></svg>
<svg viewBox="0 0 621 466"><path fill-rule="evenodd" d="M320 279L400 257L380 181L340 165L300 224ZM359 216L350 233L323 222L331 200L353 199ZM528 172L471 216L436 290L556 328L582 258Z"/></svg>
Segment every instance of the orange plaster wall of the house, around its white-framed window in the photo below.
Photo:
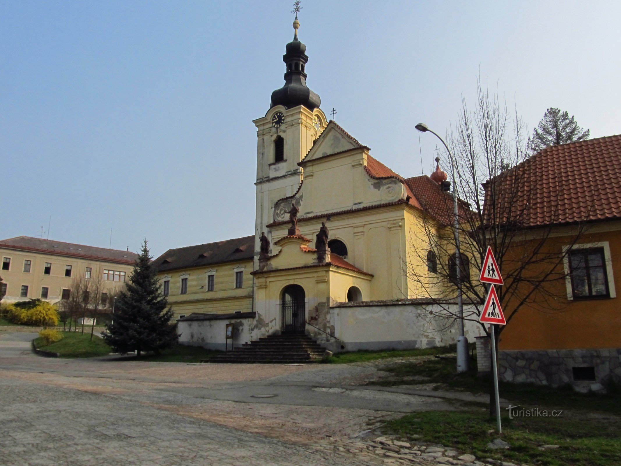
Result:
<svg viewBox="0 0 621 466"><path fill-rule="evenodd" d="M563 234L563 232L565 234ZM621 224L606 222L592 226L577 244L607 242L610 249L609 283L616 295L621 277ZM571 244L575 236L558 230L548 240L547 247L561 250ZM568 299L566 281L557 280L546 285L550 298L535 297L534 303L520 309L502 331L501 350L566 350L621 348L621 300L610 298ZM553 306L554 310L550 310Z"/></svg>

